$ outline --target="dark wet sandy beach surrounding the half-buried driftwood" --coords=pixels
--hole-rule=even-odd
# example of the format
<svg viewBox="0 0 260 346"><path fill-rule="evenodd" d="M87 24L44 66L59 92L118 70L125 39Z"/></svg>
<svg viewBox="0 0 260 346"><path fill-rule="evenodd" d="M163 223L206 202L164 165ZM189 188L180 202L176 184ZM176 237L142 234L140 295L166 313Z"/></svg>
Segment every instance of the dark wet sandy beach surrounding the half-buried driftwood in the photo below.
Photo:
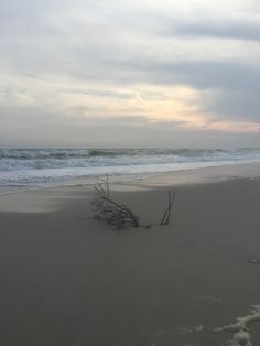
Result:
<svg viewBox="0 0 260 346"><path fill-rule="evenodd" d="M0 345L221 346L260 304L259 164L116 183L145 229L96 220L91 187L0 196ZM159 226L175 188L172 221ZM248 325L258 345L258 316ZM245 332L245 331L242 331Z"/></svg>

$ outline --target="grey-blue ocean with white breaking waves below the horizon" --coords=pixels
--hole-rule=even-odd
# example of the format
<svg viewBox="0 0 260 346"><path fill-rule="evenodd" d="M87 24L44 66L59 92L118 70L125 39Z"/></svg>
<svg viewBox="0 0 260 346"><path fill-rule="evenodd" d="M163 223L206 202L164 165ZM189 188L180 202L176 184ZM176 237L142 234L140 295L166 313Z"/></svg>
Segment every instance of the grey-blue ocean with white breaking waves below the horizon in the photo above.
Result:
<svg viewBox="0 0 260 346"><path fill-rule="evenodd" d="M159 173L260 162L260 149L0 149L0 185L40 185L102 174Z"/></svg>

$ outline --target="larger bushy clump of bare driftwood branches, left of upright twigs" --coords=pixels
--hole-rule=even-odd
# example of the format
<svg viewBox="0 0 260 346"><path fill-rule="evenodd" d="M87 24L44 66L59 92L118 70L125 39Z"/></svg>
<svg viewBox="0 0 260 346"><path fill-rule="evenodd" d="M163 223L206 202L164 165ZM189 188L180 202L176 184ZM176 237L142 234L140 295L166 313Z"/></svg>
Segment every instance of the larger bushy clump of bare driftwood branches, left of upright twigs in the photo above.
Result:
<svg viewBox="0 0 260 346"><path fill-rule="evenodd" d="M129 206L119 204L110 197L110 190L107 180L93 185L96 198L93 201L95 216L117 228L140 227L139 217L133 214Z"/></svg>

